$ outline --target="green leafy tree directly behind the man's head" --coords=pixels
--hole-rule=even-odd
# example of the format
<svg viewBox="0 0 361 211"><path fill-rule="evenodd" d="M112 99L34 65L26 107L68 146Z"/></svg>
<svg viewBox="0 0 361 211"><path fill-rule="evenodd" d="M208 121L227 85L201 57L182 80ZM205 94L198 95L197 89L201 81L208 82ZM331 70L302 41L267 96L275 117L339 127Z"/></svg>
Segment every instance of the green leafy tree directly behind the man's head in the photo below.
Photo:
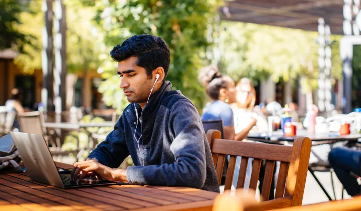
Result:
<svg viewBox="0 0 361 211"><path fill-rule="evenodd" d="M197 81L197 74L210 45L207 27L213 20L217 0L104 0L96 1L95 6L94 20L109 47L104 56L134 34L162 37L171 50L167 80L173 89L181 90L198 108L202 107L204 88ZM105 60L102 70L106 80L99 91L107 105L122 109L126 102L121 100L124 95L115 76L116 63L109 56Z"/></svg>

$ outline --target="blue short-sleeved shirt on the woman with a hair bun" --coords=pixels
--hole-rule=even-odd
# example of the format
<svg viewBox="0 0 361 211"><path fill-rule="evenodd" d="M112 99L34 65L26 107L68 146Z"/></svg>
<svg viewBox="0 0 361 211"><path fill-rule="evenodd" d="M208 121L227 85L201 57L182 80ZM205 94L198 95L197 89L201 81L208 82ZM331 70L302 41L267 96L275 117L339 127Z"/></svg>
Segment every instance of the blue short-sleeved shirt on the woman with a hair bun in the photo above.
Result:
<svg viewBox="0 0 361 211"><path fill-rule="evenodd" d="M204 109L202 121L206 120L222 120L223 126L234 126L231 106L221 100L212 102Z"/></svg>

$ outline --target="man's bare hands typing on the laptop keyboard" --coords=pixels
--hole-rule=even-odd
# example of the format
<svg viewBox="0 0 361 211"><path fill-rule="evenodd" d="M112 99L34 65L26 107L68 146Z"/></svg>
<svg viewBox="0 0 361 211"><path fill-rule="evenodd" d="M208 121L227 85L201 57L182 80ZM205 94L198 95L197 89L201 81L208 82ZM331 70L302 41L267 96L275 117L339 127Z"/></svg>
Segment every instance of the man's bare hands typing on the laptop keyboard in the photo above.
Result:
<svg viewBox="0 0 361 211"><path fill-rule="evenodd" d="M96 159L87 159L86 161L74 163L71 173L72 181L81 181L89 176L108 181L128 181L126 170L109 168L100 164Z"/></svg>

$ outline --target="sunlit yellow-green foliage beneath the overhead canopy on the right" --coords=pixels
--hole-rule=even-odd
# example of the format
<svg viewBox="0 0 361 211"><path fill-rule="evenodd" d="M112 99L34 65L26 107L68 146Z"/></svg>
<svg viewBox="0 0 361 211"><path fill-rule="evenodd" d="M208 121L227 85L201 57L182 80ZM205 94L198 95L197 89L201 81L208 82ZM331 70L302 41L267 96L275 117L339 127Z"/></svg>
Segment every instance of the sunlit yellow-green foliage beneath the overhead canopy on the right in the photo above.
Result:
<svg viewBox="0 0 361 211"><path fill-rule="evenodd" d="M255 82L271 77L275 82L301 77L304 92L317 88L317 32L251 23L223 21L220 25L221 69L238 81L250 77ZM332 77L342 76L339 40L332 45Z"/></svg>

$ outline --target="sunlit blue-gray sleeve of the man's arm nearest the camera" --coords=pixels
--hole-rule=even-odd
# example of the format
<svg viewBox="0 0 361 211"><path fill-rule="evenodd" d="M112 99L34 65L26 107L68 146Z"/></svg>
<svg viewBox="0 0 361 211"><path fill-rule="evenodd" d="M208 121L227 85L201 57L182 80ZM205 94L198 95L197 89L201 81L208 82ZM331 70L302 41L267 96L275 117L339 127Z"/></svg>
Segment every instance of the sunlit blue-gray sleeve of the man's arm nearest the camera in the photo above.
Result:
<svg viewBox="0 0 361 211"><path fill-rule="evenodd" d="M171 150L172 164L129 166L131 184L202 188L206 179L204 130L199 114L187 99L176 102L169 117L170 133L176 137Z"/></svg>

